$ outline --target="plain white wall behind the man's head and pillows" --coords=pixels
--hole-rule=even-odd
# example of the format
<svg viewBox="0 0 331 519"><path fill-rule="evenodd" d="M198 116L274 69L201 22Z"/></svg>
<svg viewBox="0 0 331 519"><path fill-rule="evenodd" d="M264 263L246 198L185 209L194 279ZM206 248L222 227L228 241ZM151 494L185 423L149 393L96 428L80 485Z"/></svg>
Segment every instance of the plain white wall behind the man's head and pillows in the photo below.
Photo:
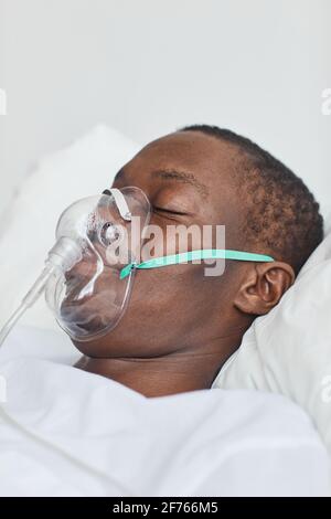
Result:
<svg viewBox="0 0 331 519"><path fill-rule="evenodd" d="M330 0L0 0L0 209L97 123L141 142L229 127L330 203Z"/></svg>

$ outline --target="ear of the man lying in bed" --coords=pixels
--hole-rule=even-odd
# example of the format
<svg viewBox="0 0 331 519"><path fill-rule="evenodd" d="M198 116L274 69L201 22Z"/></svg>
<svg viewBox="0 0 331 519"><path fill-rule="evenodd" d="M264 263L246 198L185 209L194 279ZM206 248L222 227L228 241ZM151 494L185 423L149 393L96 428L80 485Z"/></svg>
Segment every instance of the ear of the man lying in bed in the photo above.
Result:
<svg viewBox="0 0 331 519"><path fill-rule="evenodd" d="M263 316L277 305L282 294L293 284L296 275L284 262L255 263L247 268L234 299L244 314Z"/></svg>

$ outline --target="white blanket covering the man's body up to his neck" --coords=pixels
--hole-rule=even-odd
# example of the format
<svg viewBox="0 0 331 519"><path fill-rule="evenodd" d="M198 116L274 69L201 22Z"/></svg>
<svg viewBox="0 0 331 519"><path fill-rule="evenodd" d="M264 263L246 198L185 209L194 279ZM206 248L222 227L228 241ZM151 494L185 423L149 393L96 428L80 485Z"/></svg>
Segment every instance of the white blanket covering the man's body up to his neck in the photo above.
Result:
<svg viewBox="0 0 331 519"><path fill-rule="evenodd" d="M75 352L61 339L54 352L55 336L18 328L0 350L0 495L328 492L324 447L287 399L218 389L146 399L72 368Z"/></svg>

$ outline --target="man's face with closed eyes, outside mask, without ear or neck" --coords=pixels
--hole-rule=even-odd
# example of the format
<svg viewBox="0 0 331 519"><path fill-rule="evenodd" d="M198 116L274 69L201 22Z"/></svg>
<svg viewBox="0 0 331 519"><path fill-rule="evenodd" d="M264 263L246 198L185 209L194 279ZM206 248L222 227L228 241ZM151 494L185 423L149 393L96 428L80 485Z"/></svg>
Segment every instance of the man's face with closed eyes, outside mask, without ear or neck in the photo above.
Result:
<svg viewBox="0 0 331 519"><path fill-rule="evenodd" d="M114 188L140 188L151 203L150 224L225 225L226 248L241 248L236 150L196 131L179 131L146 146L121 168ZM196 248L192 243L188 250ZM199 248L202 248L199 246ZM205 265L191 263L137 271L131 298L107 336L75 342L89 357L156 357L201 347L236 327L232 298L239 267L227 263L222 276L205 276Z"/></svg>

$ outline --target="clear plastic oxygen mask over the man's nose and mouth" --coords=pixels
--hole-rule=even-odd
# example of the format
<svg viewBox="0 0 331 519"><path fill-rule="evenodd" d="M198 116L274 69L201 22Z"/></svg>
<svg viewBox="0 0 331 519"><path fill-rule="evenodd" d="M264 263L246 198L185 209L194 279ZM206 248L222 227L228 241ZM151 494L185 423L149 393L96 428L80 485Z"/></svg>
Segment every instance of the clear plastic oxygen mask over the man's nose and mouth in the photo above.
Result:
<svg viewBox="0 0 331 519"><path fill-rule="evenodd" d="M104 336L120 320L135 269L125 279L120 272L139 260L149 219L149 201L136 187L78 200L62 213L56 240L74 247L75 254L53 272L46 300L72 339Z"/></svg>

